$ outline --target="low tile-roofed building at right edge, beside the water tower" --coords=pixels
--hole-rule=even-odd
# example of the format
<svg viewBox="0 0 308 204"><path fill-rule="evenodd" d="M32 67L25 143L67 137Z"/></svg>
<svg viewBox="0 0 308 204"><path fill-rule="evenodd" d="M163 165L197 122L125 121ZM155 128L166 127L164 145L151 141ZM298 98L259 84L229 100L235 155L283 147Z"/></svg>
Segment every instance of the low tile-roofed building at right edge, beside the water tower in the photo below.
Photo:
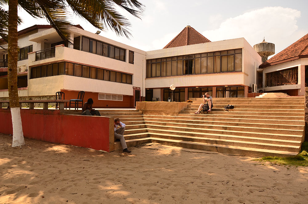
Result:
<svg viewBox="0 0 308 204"><path fill-rule="evenodd" d="M308 34L259 66L264 92L304 96L308 83ZM307 71L308 73L308 71Z"/></svg>

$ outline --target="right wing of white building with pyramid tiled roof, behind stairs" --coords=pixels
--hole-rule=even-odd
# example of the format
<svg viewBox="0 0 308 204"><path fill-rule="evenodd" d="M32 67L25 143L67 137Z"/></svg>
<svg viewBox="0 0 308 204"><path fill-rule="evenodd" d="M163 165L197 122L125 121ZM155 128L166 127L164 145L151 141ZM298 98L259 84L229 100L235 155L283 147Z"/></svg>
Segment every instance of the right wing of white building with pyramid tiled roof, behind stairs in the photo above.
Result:
<svg viewBox="0 0 308 204"><path fill-rule="evenodd" d="M244 38L211 42L186 26L161 50L147 51L146 100L247 97L256 83L260 55Z"/></svg>

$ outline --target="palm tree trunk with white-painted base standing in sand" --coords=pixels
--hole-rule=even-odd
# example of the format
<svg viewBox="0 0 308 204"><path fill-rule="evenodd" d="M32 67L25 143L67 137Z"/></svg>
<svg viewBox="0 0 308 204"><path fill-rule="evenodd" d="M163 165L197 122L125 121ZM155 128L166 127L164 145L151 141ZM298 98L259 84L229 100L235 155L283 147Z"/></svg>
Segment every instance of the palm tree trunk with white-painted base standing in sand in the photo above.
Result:
<svg viewBox="0 0 308 204"><path fill-rule="evenodd" d="M19 108L18 89L17 89L17 55L18 55L18 0L9 1L9 36L8 36L8 89L9 100L13 124L13 143L12 147L25 145L22 132L22 123Z"/></svg>

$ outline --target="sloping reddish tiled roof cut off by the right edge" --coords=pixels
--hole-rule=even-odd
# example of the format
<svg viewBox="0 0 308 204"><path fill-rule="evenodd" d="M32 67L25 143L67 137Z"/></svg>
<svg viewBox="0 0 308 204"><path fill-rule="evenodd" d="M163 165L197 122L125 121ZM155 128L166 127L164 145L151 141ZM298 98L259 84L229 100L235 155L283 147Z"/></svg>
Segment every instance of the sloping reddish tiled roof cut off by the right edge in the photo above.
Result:
<svg viewBox="0 0 308 204"><path fill-rule="evenodd" d="M308 57L308 34L279 52L274 57L263 62L259 68L268 67L274 64L284 63L295 59Z"/></svg>

